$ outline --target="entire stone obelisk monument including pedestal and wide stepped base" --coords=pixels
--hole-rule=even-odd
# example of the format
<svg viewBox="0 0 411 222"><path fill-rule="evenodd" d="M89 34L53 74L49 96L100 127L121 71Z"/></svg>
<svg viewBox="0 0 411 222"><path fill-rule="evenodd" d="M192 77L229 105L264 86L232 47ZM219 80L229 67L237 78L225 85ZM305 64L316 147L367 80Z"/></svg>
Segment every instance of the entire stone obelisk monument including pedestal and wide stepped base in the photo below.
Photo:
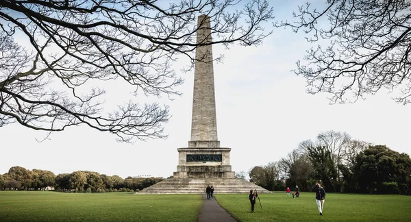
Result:
<svg viewBox="0 0 411 222"><path fill-rule="evenodd" d="M210 17L201 15L197 24L197 47L192 99L191 139L188 147L178 148L177 171L173 178L139 191L152 193L202 194L207 185L219 193L271 193L247 180L236 178L229 164L230 148L220 147L217 138L216 100L214 95L214 70L212 66Z"/></svg>

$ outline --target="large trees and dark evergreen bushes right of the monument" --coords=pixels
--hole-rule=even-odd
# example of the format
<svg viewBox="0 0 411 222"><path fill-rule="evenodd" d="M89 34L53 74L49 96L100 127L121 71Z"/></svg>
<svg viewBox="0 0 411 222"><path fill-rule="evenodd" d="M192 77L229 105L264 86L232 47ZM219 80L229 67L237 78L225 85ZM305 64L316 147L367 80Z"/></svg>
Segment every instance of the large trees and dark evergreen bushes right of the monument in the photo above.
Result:
<svg viewBox="0 0 411 222"><path fill-rule="evenodd" d="M327 192L411 195L411 159L386 145L351 140L345 132L320 133L277 162L249 171L250 182L269 190L312 191L321 182Z"/></svg>

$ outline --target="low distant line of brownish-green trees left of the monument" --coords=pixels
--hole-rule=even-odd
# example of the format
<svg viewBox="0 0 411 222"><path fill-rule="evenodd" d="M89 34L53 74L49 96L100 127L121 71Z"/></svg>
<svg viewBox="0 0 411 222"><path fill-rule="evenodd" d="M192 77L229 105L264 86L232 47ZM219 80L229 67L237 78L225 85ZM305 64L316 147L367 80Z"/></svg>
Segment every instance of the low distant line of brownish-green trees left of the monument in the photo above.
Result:
<svg viewBox="0 0 411 222"><path fill-rule="evenodd" d="M75 193L133 192L162 181L162 177L127 177L105 175L92 171L60 173L24 167L11 167L8 173L0 174L0 190L55 190Z"/></svg>

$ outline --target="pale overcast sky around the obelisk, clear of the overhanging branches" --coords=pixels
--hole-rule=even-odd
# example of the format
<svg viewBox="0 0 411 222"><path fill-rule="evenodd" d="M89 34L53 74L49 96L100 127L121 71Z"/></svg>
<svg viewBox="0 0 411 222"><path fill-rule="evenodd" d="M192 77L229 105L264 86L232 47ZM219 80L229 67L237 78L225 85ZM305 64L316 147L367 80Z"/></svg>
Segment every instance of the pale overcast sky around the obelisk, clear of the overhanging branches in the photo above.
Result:
<svg viewBox="0 0 411 222"><path fill-rule="evenodd" d="M288 3L289 4L289 3ZM273 5L277 19L290 16L292 5ZM411 154L409 126L411 105L402 106L386 92L344 105L329 105L327 95L308 95L305 80L290 70L310 45L302 34L275 29L260 47L214 46L214 55L225 54L214 64L217 132L221 147L230 147L233 171L275 162L286 156L302 140L314 140L327 130L347 132L354 139L386 145ZM175 63L182 68L187 60ZM177 148L190 140L194 72L179 74L185 83L182 97L158 101L171 107L166 124L169 138L134 144L117 143L115 136L88 127L71 127L45 136L18 124L0 127L0 173L10 167L44 169L55 173L97 171L121 177L151 175L169 177L177 169ZM108 103L128 97L127 87L107 84ZM145 101L143 97L139 97ZM109 110L108 110L109 111Z"/></svg>

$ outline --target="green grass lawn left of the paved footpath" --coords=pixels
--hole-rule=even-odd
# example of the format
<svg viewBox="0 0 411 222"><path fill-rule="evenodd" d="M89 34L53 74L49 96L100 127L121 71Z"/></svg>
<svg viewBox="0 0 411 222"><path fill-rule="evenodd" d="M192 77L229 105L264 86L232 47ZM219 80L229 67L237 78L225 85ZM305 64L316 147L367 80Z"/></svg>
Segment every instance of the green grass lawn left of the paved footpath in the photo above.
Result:
<svg viewBox="0 0 411 222"><path fill-rule="evenodd" d="M196 221L201 195L0 191L0 221Z"/></svg>

